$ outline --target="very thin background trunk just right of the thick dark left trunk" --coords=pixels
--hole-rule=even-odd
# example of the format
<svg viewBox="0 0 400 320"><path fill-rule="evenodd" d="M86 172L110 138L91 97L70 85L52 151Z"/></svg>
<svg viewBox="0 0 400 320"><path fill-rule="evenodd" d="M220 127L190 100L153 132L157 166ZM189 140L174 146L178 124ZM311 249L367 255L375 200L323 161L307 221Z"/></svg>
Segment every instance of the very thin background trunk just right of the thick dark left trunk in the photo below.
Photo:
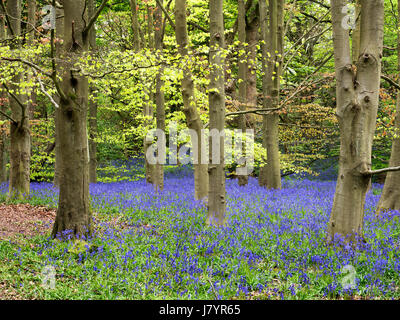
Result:
<svg viewBox="0 0 400 320"><path fill-rule="evenodd" d="M94 0L88 1L88 14L92 16L95 12L96 2ZM92 52L97 50L96 45L96 28L89 32L89 46ZM90 88L92 99L89 100L89 183L97 182L97 102L95 88Z"/></svg>

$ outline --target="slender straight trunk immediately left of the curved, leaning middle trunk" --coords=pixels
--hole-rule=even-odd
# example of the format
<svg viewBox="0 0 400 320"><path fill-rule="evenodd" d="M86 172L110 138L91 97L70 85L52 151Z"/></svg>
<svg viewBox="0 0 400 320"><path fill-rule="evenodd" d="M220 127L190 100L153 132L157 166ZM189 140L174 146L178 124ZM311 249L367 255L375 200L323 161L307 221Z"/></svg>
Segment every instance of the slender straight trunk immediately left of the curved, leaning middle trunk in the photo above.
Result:
<svg viewBox="0 0 400 320"><path fill-rule="evenodd" d="M161 4L163 1L160 1ZM151 10L150 10L151 11ZM151 12L149 12L150 14ZM155 32L154 32L154 39L155 39L155 49L157 51L157 55L160 56L160 60L162 58L163 52L163 30L162 30L162 11L160 6L157 4L157 8L154 13L155 16ZM150 37L149 37L150 39ZM164 86L164 80L162 79L164 73L164 66L161 65L159 71L156 75L156 108L157 108L157 129L162 130L165 132L165 105L164 105L164 91L162 87ZM165 141L161 143L164 150L158 150L158 153L165 154ZM158 158L158 157L157 157ZM154 173L155 183L154 186L156 191L164 190L164 164L158 163L155 165L155 173Z"/></svg>

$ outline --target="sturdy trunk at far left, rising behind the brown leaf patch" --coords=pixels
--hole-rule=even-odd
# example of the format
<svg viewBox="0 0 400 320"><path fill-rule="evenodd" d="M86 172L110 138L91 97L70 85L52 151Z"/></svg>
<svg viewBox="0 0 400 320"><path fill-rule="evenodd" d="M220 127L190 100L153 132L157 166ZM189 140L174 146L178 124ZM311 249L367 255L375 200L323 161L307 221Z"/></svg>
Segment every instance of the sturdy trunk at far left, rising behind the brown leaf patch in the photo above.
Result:
<svg viewBox="0 0 400 320"><path fill-rule="evenodd" d="M9 36L21 34L21 1L7 1L7 12L11 26L7 28ZM19 40L14 40L12 47L18 49ZM23 74L17 73L9 85L16 98L9 97L11 117L16 123L10 124L10 184L9 199L22 199L29 195L31 137L26 95L18 93L18 84L23 81Z"/></svg>

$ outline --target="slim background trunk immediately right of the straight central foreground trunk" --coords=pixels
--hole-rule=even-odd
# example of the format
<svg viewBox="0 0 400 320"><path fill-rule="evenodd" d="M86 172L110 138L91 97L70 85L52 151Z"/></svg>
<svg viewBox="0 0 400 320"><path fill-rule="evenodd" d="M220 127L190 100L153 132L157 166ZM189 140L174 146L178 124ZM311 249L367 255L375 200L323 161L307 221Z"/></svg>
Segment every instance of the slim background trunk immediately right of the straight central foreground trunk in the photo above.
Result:
<svg viewBox="0 0 400 320"><path fill-rule="evenodd" d="M244 0L238 0L238 40L239 40L239 71L238 71L238 78L239 78L239 103L240 110L246 110L246 103L247 103L247 57L246 57L246 8ZM257 97L257 95L256 95ZM239 129L244 134L246 132L246 115L241 114L239 116ZM245 144L242 145L242 160L245 158L246 155L246 148ZM242 165L242 164L241 164ZM248 176L247 175L239 175L238 176L238 184L239 186L245 186L248 183Z"/></svg>

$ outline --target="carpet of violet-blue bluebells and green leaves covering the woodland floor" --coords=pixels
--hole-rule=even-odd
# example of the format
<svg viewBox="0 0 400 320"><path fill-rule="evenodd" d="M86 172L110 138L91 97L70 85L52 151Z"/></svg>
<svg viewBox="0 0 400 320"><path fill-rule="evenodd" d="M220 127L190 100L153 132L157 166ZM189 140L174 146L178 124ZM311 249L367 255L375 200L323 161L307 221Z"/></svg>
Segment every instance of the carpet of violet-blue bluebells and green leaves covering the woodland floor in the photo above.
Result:
<svg viewBox="0 0 400 320"><path fill-rule="evenodd" d="M45 299L399 299L400 213L375 215L381 188L368 192L364 237L350 246L326 242L333 181L267 191L227 180L223 228L205 225L189 173L167 175L159 194L143 180L93 184L92 238L0 241L0 277ZM51 184L31 190L31 204L57 206ZM55 289L41 287L46 265Z"/></svg>

